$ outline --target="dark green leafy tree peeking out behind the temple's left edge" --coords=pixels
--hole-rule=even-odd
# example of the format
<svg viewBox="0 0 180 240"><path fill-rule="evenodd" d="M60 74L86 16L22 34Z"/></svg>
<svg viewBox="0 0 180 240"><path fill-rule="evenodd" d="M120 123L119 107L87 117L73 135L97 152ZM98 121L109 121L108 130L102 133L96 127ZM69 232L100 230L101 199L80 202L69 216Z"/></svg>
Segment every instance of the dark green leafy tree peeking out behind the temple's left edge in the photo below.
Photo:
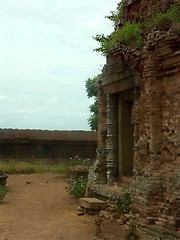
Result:
<svg viewBox="0 0 180 240"><path fill-rule="evenodd" d="M88 78L85 83L88 98L94 98L94 103L89 106L91 115L88 118L88 124L93 131L98 130L98 100L96 90L97 77Z"/></svg>

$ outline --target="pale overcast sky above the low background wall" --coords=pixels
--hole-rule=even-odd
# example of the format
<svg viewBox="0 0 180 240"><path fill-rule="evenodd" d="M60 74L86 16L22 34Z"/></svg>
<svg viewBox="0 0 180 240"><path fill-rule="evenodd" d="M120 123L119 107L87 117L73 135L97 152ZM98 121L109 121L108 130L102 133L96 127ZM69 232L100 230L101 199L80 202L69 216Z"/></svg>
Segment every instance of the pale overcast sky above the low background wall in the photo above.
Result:
<svg viewBox="0 0 180 240"><path fill-rule="evenodd" d="M85 81L105 58L115 0L0 1L0 128L89 130Z"/></svg>

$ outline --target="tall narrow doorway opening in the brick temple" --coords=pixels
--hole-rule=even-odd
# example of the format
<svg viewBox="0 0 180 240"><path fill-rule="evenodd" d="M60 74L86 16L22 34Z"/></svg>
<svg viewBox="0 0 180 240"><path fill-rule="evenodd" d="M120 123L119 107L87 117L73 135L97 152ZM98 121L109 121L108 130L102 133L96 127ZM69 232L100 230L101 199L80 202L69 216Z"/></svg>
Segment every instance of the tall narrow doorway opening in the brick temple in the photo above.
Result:
<svg viewBox="0 0 180 240"><path fill-rule="evenodd" d="M124 177L133 175L133 132L132 121L133 100L118 98L118 175Z"/></svg>

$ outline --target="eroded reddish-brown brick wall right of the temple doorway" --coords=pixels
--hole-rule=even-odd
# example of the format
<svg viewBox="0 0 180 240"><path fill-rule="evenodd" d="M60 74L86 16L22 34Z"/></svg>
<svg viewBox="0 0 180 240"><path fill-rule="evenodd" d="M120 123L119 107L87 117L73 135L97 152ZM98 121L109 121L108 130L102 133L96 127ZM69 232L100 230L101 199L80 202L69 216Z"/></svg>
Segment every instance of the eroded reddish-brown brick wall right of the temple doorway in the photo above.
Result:
<svg viewBox="0 0 180 240"><path fill-rule="evenodd" d="M159 33L160 34L160 33ZM142 88L135 102L133 209L144 223L177 231L180 205L180 39L162 34L142 53ZM160 35L159 35L160 36Z"/></svg>

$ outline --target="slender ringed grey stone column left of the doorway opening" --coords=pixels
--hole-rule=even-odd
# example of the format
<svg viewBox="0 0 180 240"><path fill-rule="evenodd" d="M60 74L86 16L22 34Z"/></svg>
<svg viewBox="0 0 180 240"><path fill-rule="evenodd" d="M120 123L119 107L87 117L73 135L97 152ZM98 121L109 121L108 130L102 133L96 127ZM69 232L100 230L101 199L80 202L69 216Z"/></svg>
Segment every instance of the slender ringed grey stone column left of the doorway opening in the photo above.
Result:
<svg viewBox="0 0 180 240"><path fill-rule="evenodd" d="M107 184L117 178L117 99L107 96Z"/></svg>

